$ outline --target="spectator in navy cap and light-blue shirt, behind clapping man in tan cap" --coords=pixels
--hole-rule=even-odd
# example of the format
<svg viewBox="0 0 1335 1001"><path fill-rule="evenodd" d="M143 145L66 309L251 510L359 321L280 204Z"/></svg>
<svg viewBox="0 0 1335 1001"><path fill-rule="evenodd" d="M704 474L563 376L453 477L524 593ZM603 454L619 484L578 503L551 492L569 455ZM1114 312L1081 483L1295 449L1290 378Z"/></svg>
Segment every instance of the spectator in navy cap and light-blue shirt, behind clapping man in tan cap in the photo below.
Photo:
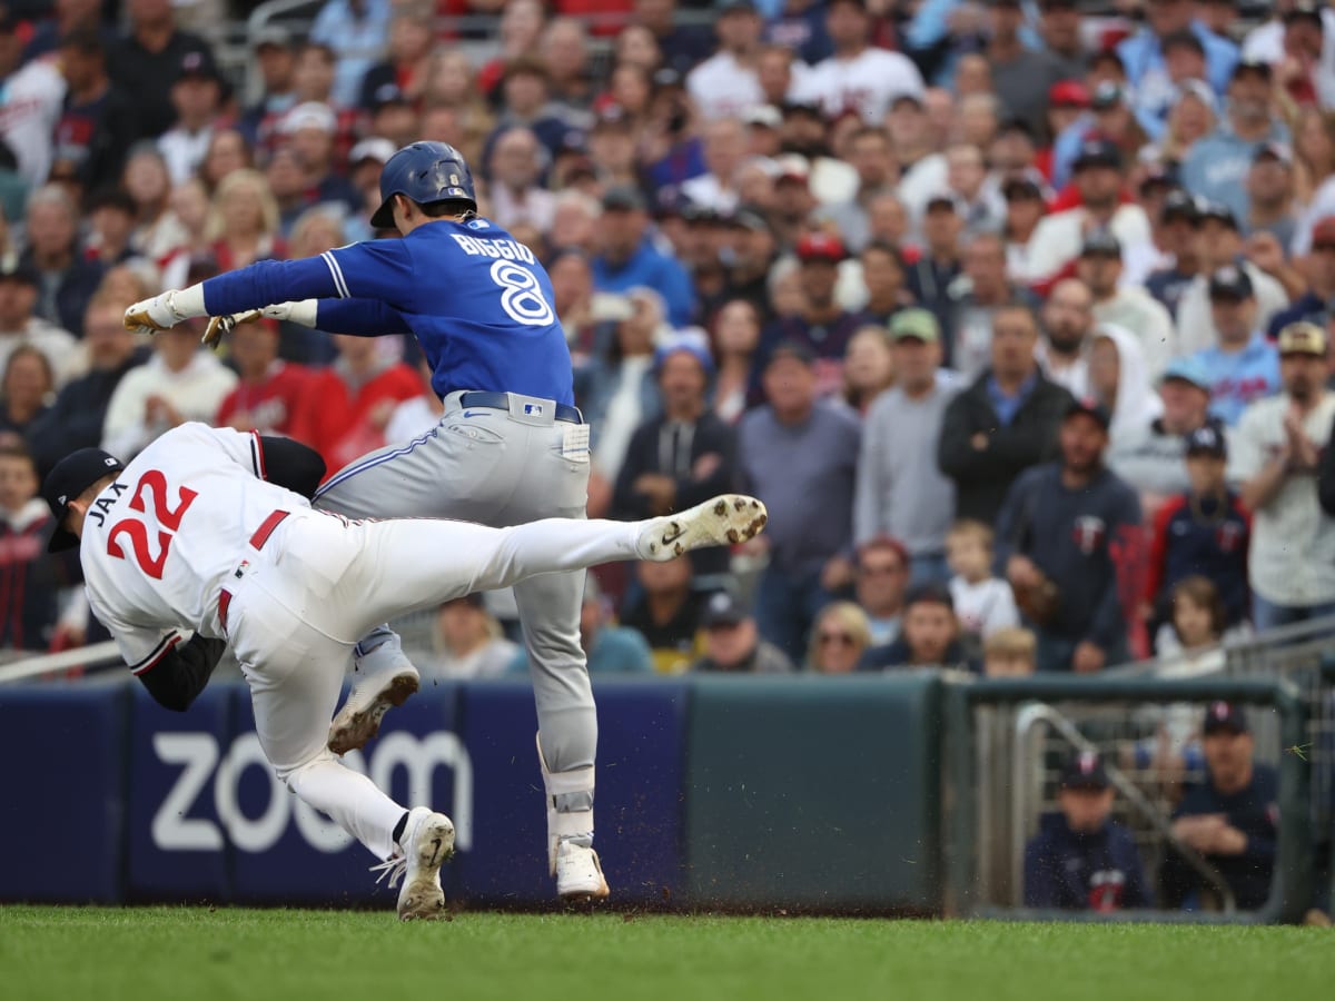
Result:
<svg viewBox="0 0 1335 1001"><path fill-rule="evenodd" d="M1256 296L1242 268L1210 276L1210 312L1219 343L1191 356L1210 383L1210 412L1230 427L1252 402L1279 391L1279 354L1256 330Z"/></svg>

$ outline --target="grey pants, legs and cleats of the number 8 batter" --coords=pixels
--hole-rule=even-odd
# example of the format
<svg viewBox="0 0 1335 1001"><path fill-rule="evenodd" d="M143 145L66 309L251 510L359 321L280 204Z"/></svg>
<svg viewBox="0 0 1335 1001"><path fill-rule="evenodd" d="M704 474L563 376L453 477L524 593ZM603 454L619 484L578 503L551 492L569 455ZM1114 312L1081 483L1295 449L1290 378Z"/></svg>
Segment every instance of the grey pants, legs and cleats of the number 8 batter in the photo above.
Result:
<svg viewBox="0 0 1335 1001"><path fill-rule="evenodd" d="M445 400L445 415L429 435L367 455L331 476L316 506L352 518L438 517L493 526L582 518L587 426L554 419L550 400L511 395L510 408L501 410L465 407L462 396ZM549 862L555 872L558 840L569 841L555 874L558 893L571 897L606 893L589 848L598 727L579 646L582 593L582 570L515 587L538 710ZM359 654L352 690L330 727L330 746L339 753L363 746L384 711L417 685L398 637L387 629L363 638Z"/></svg>

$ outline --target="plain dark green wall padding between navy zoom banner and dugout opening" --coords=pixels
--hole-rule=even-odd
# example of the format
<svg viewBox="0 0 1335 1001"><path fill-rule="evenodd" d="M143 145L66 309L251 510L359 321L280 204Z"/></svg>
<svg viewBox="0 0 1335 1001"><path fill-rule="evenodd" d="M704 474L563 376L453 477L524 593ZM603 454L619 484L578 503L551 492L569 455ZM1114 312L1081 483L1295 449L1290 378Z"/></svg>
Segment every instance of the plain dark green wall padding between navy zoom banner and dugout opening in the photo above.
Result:
<svg viewBox="0 0 1335 1001"><path fill-rule="evenodd" d="M730 908L936 910L932 674L700 678L686 738L686 896Z"/></svg>

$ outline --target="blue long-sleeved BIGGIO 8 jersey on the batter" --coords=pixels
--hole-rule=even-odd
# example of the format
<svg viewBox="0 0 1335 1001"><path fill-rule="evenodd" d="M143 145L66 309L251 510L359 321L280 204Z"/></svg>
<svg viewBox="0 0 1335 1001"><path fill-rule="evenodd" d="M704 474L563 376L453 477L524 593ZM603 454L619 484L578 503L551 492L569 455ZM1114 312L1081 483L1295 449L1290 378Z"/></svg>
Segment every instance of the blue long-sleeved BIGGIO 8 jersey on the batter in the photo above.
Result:
<svg viewBox="0 0 1335 1001"><path fill-rule="evenodd" d="M574 403L570 351L546 270L486 219L437 220L304 260L264 260L204 282L212 316L318 299L331 334L413 334L431 388Z"/></svg>

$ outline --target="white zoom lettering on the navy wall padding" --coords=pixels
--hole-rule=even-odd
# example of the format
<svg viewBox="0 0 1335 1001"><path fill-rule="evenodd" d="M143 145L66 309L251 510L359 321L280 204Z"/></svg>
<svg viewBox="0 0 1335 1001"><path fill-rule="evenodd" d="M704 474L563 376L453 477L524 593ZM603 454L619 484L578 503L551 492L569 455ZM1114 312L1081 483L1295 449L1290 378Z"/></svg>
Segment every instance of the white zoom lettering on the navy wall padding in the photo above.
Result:
<svg viewBox="0 0 1335 1001"><path fill-rule="evenodd" d="M154 734L154 753L164 765L180 769L152 819L154 845L163 852L219 852L227 841L242 852L267 852L292 823L316 852L342 852L352 844L352 837L342 827L288 791L274 774L254 733L242 734L226 751L212 734L159 733ZM343 755L340 767L367 775L380 789L390 789L402 769L407 775L409 805L430 803L437 769L449 769L454 777L450 817L455 844L461 852L469 850L473 842L473 763L458 735L449 731L422 737L388 733L375 742L371 754L363 757L360 751L351 751ZM238 802L240 778L247 769L258 769L268 781L267 798L258 814L242 813ZM210 795L210 785L216 821L191 815Z"/></svg>

